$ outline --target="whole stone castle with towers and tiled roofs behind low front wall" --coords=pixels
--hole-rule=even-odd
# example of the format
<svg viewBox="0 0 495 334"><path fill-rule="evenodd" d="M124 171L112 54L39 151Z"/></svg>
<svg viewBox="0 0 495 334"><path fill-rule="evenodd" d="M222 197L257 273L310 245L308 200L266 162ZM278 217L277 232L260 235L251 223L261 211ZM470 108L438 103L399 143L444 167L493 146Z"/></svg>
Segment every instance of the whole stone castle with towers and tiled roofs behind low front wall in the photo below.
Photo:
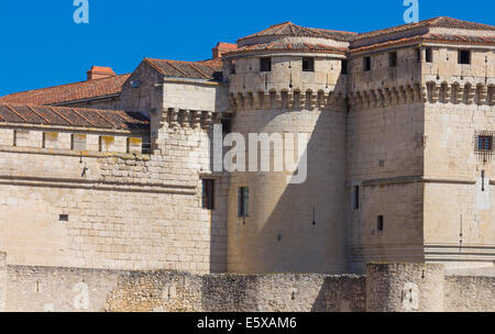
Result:
<svg viewBox="0 0 495 334"><path fill-rule="evenodd" d="M95 66L0 98L0 249L13 266L191 274L490 268L494 90L495 26L450 18L286 22L209 60ZM215 124L307 134L305 182L215 170Z"/></svg>

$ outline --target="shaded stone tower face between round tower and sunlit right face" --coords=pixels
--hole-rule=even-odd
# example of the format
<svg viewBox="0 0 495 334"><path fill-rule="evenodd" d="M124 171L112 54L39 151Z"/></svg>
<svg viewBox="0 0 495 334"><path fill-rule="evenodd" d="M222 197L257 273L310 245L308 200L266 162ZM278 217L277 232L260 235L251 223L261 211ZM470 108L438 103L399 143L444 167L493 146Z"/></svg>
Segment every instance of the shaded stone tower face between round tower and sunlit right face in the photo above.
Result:
<svg viewBox="0 0 495 334"><path fill-rule="evenodd" d="M384 51L365 55L372 57L367 71L362 55L349 64L345 208L349 261L358 272L369 261L422 261L420 63L415 47L394 51L396 67Z"/></svg>

